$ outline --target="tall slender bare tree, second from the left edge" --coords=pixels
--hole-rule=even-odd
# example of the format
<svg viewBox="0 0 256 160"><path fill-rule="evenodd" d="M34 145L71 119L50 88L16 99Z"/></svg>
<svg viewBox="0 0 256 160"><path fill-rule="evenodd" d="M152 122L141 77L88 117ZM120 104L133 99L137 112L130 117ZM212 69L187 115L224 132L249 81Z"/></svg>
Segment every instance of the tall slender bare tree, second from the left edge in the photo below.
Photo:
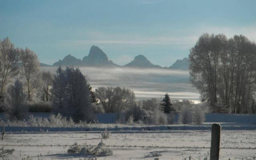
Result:
<svg viewBox="0 0 256 160"><path fill-rule="evenodd" d="M37 87L40 72L39 61L37 55L26 47L25 50L20 49L20 59L22 62L21 75L26 78L26 86L28 92L28 101L31 101L31 92Z"/></svg>

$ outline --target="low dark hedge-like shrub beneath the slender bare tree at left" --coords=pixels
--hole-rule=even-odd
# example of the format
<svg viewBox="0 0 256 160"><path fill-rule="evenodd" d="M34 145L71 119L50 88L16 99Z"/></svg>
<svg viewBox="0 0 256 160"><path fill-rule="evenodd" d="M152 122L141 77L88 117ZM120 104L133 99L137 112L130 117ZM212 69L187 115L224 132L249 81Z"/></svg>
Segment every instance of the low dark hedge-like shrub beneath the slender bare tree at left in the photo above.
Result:
<svg viewBox="0 0 256 160"><path fill-rule="evenodd" d="M52 112L52 104L50 102L28 102L28 112Z"/></svg>

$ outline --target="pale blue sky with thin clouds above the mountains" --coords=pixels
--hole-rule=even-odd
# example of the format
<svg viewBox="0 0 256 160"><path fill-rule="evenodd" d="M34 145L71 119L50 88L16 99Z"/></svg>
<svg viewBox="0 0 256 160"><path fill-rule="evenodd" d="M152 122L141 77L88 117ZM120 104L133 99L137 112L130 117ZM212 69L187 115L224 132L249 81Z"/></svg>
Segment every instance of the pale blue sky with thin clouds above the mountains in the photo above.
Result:
<svg viewBox="0 0 256 160"><path fill-rule="evenodd" d="M256 41L256 0L0 0L0 38L53 64L99 46L116 64L170 66L204 32Z"/></svg>

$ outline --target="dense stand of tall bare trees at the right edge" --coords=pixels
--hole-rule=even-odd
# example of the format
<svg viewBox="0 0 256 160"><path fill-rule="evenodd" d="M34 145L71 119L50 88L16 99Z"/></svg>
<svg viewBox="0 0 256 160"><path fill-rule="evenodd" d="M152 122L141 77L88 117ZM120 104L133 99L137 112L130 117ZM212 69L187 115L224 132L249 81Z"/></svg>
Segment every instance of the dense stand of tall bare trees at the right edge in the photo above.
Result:
<svg viewBox="0 0 256 160"><path fill-rule="evenodd" d="M256 44L202 34L190 49L190 82L212 112L255 113Z"/></svg>

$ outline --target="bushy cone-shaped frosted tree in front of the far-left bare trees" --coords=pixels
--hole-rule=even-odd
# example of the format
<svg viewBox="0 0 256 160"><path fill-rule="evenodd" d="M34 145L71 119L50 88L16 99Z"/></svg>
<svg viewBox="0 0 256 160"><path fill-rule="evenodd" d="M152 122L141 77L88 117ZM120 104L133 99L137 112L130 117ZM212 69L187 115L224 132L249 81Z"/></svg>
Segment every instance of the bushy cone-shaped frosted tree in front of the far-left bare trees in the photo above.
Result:
<svg viewBox="0 0 256 160"><path fill-rule="evenodd" d="M23 92L22 82L16 79L14 85L9 86L6 96L7 115L11 120L26 118L28 108L25 102L26 94Z"/></svg>

